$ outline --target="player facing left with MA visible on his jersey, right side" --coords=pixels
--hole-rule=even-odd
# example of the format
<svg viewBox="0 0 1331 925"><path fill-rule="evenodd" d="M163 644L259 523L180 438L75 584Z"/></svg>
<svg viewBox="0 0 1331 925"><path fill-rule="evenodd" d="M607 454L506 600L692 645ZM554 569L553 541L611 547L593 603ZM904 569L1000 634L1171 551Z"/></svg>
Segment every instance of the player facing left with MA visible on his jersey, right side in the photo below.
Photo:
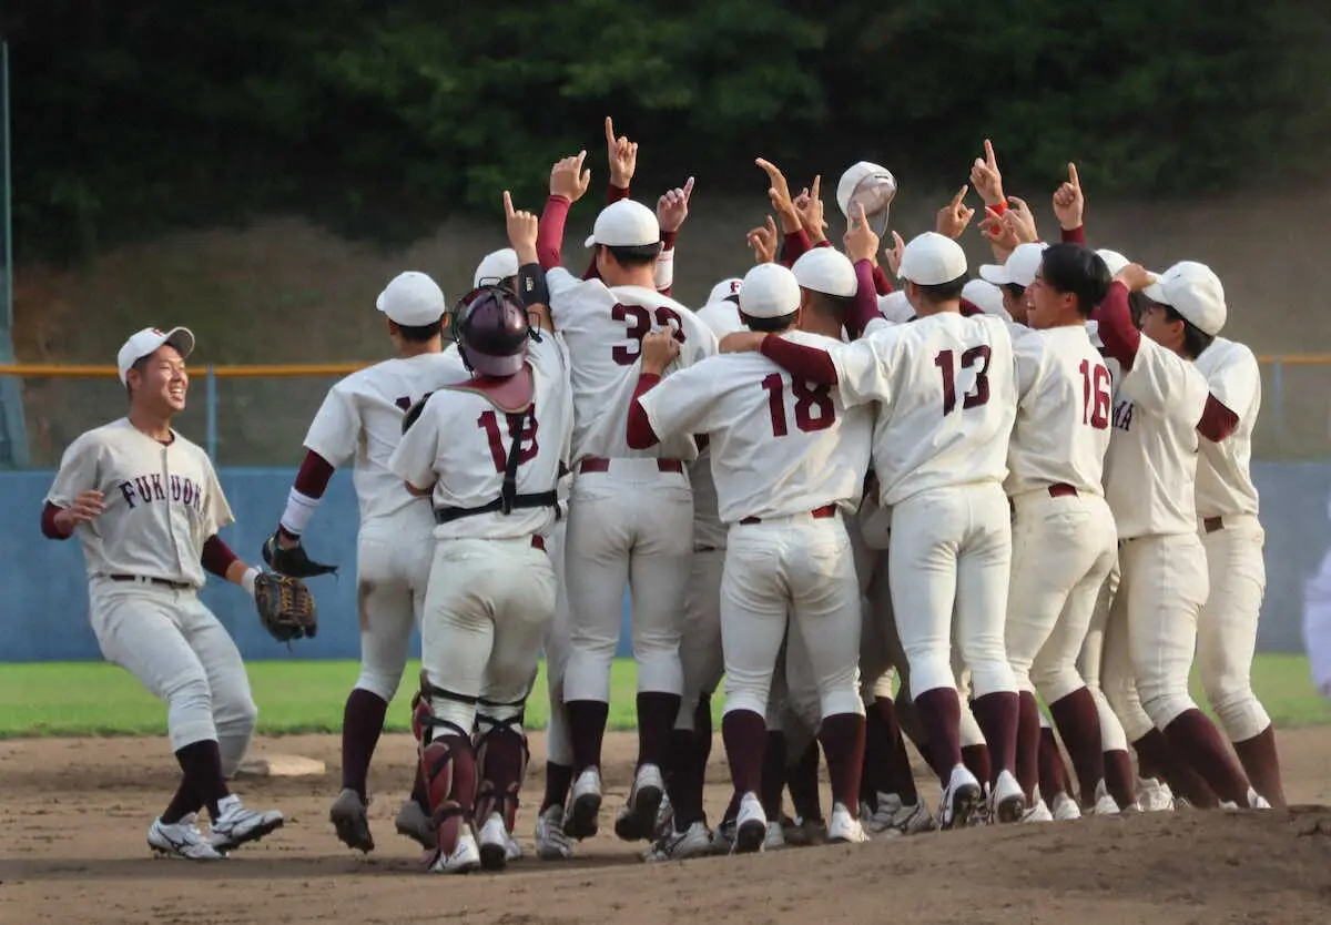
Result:
<svg viewBox="0 0 1331 925"><path fill-rule="evenodd" d="M1139 331L1127 306L1130 290L1145 290L1151 299ZM1198 435L1221 441L1238 425L1191 361L1221 330L1225 314L1219 279L1201 264L1185 261L1158 278L1135 264L1119 270L1094 314L1106 351L1122 367L1105 494L1118 526L1118 596L1142 709L1222 805L1256 808L1268 804L1187 688L1207 596L1194 496Z"/></svg>

